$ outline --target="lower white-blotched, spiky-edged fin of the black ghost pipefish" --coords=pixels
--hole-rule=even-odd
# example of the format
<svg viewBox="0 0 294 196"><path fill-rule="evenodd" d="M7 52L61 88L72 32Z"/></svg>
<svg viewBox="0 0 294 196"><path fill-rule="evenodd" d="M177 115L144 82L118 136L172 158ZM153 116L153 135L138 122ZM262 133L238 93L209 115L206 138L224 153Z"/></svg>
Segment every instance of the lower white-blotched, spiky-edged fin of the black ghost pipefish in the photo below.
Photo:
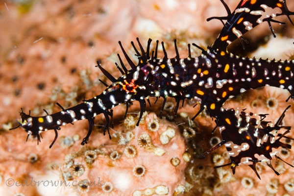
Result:
<svg viewBox="0 0 294 196"><path fill-rule="evenodd" d="M279 175L279 172L274 170L271 164L272 158L279 159L294 167L282 160L278 156L277 150L279 147L291 149L291 145L280 141L282 138L291 139L286 136L290 132L291 126L281 125L285 112L290 106L284 110L276 123L266 121L267 115L264 114L257 115L239 109L221 109L224 118L218 120L218 125L223 140L220 144L203 153L201 157L224 145L231 162L215 168L231 166L233 173L235 173L236 167L241 163L248 165L258 178L260 176L256 170L257 163L266 164Z"/></svg>

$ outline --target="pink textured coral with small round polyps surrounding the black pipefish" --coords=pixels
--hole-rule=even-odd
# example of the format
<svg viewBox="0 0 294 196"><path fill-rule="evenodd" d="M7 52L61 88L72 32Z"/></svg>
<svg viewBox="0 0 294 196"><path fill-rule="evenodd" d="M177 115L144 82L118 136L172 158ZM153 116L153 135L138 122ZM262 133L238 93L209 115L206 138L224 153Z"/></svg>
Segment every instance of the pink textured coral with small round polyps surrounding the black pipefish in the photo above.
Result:
<svg viewBox="0 0 294 196"><path fill-rule="evenodd" d="M231 9L237 3L228 1ZM173 100L168 100L163 119L156 116L159 101L147 107L148 112L138 127L135 126L138 104L131 106L126 119L123 119L125 107L118 106L114 108L115 126L110 130L113 139L110 141L101 133L104 121L99 115L84 147L80 143L88 127L82 121L63 126L51 149L53 131L42 134L44 138L37 145L36 138L30 137L25 142L27 134L21 128L8 130L17 125L20 108L38 116L45 114L43 108L48 113L60 111L56 102L67 108L84 97L98 95L105 88L98 79L109 81L95 67L96 61L114 76L120 76L114 64L118 61L116 53L120 52L119 40L132 54L129 43L136 37L144 46L149 37L159 39L166 43L172 57L176 38L181 57L186 57L187 43L206 47L217 37L221 23L206 22L206 18L225 14L219 0L0 1L0 195L293 194L294 169L280 160L273 161L273 165L281 175L260 164L258 172L262 180L259 180L245 165L238 166L235 175L229 167L213 169L229 162L224 147L206 158L198 158L220 142L221 136L218 131L211 134L215 123L205 112L190 121L198 108L189 102L180 108L177 119L171 121ZM286 27L284 35L292 37L289 25ZM264 29L255 32L253 41L270 35L268 26ZM254 55L292 56L291 39L279 35L270 38L269 43L274 48L277 46L273 43L282 43L278 45L282 49ZM193 50L199 53L198 49ZM276 56L271 56L272 53ZM131 57L136 59L134 55ZM226 106L270 114L268 120L274 121L293 104L285 103L288 96L287 91L262 88L248 91ZM293 118L294 106L287 111L283 123L293 126ZM294 164L293 150L278 150L283 160ZM61 182L69 184L61 186Z"/></svg>

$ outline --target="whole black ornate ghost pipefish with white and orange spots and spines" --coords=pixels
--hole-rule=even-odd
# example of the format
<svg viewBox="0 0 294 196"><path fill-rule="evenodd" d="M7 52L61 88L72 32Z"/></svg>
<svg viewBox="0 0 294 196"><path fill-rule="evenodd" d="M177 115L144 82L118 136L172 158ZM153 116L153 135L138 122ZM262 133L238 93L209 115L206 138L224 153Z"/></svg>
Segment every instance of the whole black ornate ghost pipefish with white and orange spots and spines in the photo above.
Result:
<svg viewBox="0 0 294 196"><path fill-rule="evenodd" d="M168 58L162 43L164 57L158 58L158 41L155 49L150 52L151 39L148 40L145 50L137 38L139 47L135 47L135 44L131 42L139 60L136 65L119 42L123 55L131 68L130 70L127 70L123 64L120 55L118 57L121 66L116 64L122 73L119 78L113 77L98 63L97 67L111 81L110 85L101 81L106 89L100 95L83 100L82 103L68 109L64 109L57 103L62 109L61 112L49 115L45 111L47 115L42 117L32 117L30 113L25 114L22 110L19 126L25 129L28 136L36 136L38 142L43 131L54 130L55 138L50 145L52 147L57 139L57 130L60 129L60 126L87 119L89 130L81 143L84 145L89 140L94 125L94 117L98 114L104 115L106 123L103 133L105 135L107 130L111 138L109 126L112 125L112 108L116 105L125 103L127 112L129 104L135 100L139 101L138 125L145 111L146 101L150 104L149 97L163 98L162 110L166 99L168 97L174 98L176 102L174 117L180 101L190 99L200 104L200 110L192 120L206 108L210 116L215 119L217 127L220 127L223 141L209 150L208 153L221 145L226 145L227 150L231 153L231 163L227 165L231 166L233 172L235 172L238 164L252 162L249 166L259 177L256 172L256 163L265 161L272 168L270 160L272 155L275 155L272 149L277 147L290 148L289 145L279 141L280 138L286 137L285 134L288 132L278 135L271 133L270 122L264 121L263 118L257 120L255 117L251 117L251 113L248 113L249 115L243 112L238 113L234 108L224 110L222 105L227 98L237 96L248 89L263 86L287 89L290 92L289 98L294 98L294 61L245 58L228 52L226 48L237 38L244 44L245 40L242 35L261 22L267 22L271 29L272 22L283 24L273 20L272 17L285 15L291 21L290 15L294 15L294 12L288 10L285 0L241 0L233 12L229 10L223 0L221 2L228 15L210 19L219 19L222 23L223 20L227 20L227 22L226 24L223 23L224 27L212 47L205 50L193 44L202 50L200 56L192 57L190 45L188 45L188 57L180 58L176 41L174 41L176 56ZM265 11L272 13L268 15L265 14ZM285 112L280 119L283 119L284 116ZM274 124L273 128L276 131L282 128L290 129L288 126L281 126L280 122ZM266 140L266 138L269 139ZM244 143L247 148L240 152L232 151L228 146L232 145L238 148L244 146ZM259 158L255 157L256 153Z"/></svg>

